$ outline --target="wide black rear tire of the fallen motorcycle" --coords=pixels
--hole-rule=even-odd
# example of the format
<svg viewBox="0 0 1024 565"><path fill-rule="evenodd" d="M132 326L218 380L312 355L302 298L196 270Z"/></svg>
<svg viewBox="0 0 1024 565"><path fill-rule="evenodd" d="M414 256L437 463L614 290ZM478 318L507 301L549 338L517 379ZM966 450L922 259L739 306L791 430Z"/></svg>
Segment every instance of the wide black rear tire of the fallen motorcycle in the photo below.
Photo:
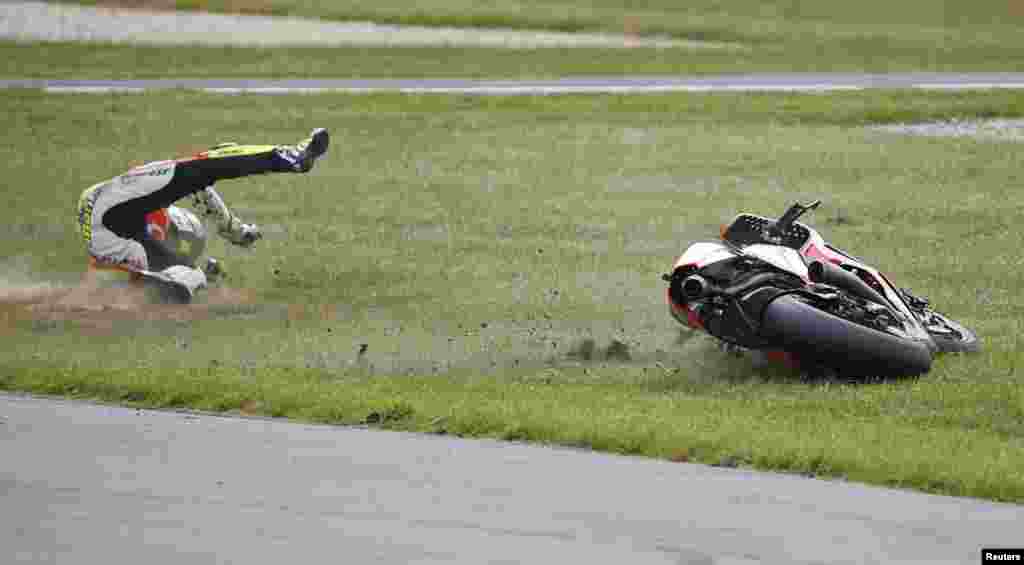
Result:
<svg viewBox="0 0 1024 565"><path fill-rule="evenodd" d="M909 377L932 368L932 352L924 342L845 320L791 295L770 302L761 323L765 339L842 376Z"/></svg>

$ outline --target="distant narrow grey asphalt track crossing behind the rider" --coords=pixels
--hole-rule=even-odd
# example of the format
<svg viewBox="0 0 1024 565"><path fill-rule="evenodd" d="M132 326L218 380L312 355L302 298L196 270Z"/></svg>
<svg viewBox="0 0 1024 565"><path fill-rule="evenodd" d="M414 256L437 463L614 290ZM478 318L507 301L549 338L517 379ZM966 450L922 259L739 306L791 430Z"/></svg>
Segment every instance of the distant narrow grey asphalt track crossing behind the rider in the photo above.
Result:
<svg viewBox="0 0 1024 565"><path fill-rule="evenodd" d="M186 88L208 92L407 92L460 94L571 94L655 92L828 92L865 89L1024 89L1024 73L755 74L701 77L582 77L552 80L473 79L154 79L0 80L0 88L48 92L140 92Z"/></svg>

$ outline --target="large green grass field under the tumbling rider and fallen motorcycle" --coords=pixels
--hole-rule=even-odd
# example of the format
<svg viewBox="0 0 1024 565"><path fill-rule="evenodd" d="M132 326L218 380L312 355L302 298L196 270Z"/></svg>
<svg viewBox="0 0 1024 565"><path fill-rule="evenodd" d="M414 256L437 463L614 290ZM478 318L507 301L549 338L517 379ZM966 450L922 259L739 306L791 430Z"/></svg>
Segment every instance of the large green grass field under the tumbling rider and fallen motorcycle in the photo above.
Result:
<svg viewBox="0 0 1024 565"><path fill-rule="evenodd" d="M78 193L133 162L311 126L335 140L309 175L219 184L267 231L251 253L212 244L252 304L105 323L8 304L0 388L1024 501L1019 145L861 127L1024 116L1015 93L25 90L0 104L7 288L73 284ZM805 383L676 328L658 275L687 243L811 197L826 237L976 328L985 351L919 380Z"/></svg>

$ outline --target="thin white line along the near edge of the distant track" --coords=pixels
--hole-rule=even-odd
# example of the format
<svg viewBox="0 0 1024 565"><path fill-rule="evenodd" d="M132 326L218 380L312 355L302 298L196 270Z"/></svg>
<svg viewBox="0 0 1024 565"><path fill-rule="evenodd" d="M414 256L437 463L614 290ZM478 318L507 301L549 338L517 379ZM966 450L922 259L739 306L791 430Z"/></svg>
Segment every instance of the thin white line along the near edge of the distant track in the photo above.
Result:
<svg viewBox="0 0 1024 565"><path fill-rule="evenodd" d="M992 90L1024 89L1024 83L922 83L907 86L862 86L853 84L734 84L734 85L480 85L480 86L423 86L423 87L200 87L191 90L217 94L317 94L339 92L347 94L372 94L398 92L404 94L644 94L658 92L836 92L857 91L871 88L911 88L916 90ZM48 86L48 93L105 94L137 93L147 90L138 86Z"/></svg>

